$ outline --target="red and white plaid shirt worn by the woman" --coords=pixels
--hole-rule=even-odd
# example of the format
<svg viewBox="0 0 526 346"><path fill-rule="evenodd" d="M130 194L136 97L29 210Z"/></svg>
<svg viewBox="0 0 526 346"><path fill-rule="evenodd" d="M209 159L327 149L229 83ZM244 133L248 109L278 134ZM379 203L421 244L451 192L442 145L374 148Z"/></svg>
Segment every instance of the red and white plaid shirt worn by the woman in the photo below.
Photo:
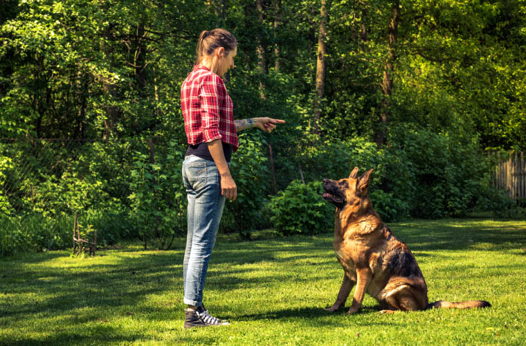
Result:
<svg viewBox="0 0 526 346"><path fill-rule="evenodd" d="M221 139L239 147L234 124L234 105L223 80L205 66L196 65L181 85L181 109L188 144Z"/></svg>

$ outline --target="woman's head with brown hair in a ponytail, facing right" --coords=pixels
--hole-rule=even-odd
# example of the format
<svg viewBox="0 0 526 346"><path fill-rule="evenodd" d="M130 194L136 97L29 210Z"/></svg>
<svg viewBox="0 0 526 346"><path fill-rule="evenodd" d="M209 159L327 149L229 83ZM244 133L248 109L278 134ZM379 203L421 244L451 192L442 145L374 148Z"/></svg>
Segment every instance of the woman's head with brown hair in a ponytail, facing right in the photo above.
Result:
<svg viewBox="0 0 526 346"><path fill-rule="evenodd" d="M236 54L237 41L227 30L221 28L204 30L199 35L196 64L203 64L203 61L208 60L217 66L217 74L223 75L234 66L233 57Z"/></svg>

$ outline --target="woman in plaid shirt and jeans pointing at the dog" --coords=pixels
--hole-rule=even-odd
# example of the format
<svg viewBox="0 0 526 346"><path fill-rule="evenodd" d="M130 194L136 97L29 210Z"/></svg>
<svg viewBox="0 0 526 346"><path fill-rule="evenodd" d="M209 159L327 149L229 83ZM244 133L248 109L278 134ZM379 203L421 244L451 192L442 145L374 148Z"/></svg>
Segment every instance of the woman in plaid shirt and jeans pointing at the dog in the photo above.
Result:
<svg viewBox="0 0 526 346"><path fill-rule="evenodd" d="M221 77L234 67L235 37L224 29L203 31L194 70L181 86L188 150L183 181L188 197L188 235L183 262L185 328L226 325L203 306L208 260L215 244L225 199L235 201L230 156L239 147L237 131L258 127L266 132L283 120L234 120L233 103Z"/></svg>

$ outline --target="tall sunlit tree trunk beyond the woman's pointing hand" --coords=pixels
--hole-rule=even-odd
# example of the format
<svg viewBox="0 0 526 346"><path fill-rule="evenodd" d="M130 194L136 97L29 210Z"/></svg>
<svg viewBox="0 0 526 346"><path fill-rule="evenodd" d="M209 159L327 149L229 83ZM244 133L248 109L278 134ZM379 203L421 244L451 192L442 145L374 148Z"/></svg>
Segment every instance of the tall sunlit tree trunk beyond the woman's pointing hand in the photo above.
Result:
<svg viewBox="0 0 526 346"><path fill-rule="evenodd" d="M314 133L320 133L319 122L321 119L321 102L325 96L325 73L327 71L327 9L326 0L321 0L320 30L318 31L318 57L316 61L316 94L314 95Z"/></svg>

